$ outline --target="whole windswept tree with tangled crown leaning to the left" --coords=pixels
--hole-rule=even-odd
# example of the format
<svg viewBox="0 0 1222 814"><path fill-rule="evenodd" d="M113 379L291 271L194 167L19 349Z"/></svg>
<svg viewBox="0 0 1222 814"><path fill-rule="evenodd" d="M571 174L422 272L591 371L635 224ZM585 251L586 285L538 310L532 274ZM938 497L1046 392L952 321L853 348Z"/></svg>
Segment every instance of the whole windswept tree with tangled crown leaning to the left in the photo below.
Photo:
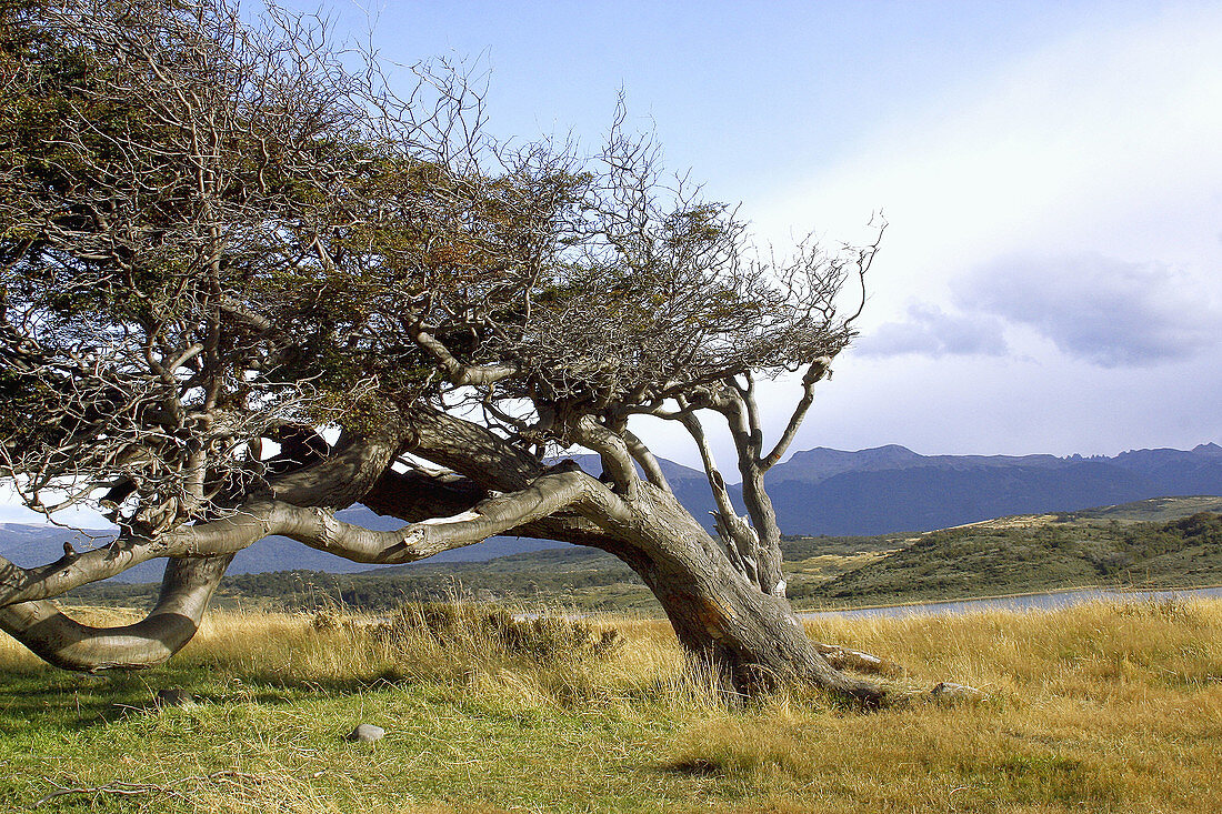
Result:
<svg viewBox="0 0 1222 814"><path fill-rule="evenodd" d="M623 560L741 691L882 698L789 609L764 488L853 337L876 241L765 262L732 208L664 183L622 116L585 159L497 145L461 75L418 68L396 94L275 9L7 4L0 48L0 467L31 507L120 529L0 563L10 634L67 669L148 666L268 535L400 563L519 534ZM755 384L783 374L802 394L769 442ZM642 417L690 434L715 534ZM574 447L601 472L555 463ZM358 501L404 526L336 519ZM153 557L161 595L136 625L51 601Z"/></svg>

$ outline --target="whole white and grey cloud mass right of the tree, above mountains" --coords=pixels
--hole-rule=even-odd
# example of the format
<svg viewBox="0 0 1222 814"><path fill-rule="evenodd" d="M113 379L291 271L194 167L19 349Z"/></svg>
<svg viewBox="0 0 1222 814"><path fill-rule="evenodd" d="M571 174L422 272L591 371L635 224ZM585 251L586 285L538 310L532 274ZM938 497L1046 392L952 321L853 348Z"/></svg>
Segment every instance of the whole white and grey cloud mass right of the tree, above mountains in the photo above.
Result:
<svg viewBox="0 0 1222 814"><path fill-rule="evenodd" d="M1222 387L1222 6L1143 16L1100 15L931 88L756 213L777 242L809 224L852 240L877 208L891 224L863 337L796 449L1114 453L1218 439L1202 405ZM953 352L971 346L942 335L996 339L998 321L1003 357ZM1134 363L1140 375L1118 367Z"/></svg>

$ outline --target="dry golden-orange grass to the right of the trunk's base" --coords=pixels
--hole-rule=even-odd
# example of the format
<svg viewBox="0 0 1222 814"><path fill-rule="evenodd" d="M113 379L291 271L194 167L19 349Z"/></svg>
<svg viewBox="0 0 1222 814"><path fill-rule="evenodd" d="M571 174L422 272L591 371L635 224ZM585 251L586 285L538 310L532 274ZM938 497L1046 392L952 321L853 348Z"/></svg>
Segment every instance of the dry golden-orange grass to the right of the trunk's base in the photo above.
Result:
<svg viewBox="0 0 1222 814"><path fill-rule="evenodd" d="M770 788L771 810L1222 810L1222 604L820 620L982 703L811 715L786 703L684 731L675 765Z"/></svg>

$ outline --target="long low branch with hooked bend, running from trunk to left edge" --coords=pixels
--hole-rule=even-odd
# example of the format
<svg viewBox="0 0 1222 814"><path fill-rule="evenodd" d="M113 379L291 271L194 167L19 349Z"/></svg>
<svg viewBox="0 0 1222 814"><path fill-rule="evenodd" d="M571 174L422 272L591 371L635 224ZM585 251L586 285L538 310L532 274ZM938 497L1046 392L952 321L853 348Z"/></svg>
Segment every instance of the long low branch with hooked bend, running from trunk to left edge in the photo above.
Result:
<svg viewBox="0 0 1222 814"><path fill-rule="evenodd" d="M281 478L274 493L296 500L325 495L332 504L347 505L352 500L340 496L345 490L335 485L335 478L347 484L349 495L360 491L360 483L368 480L369 473L386 466L390 450L396 444L397 440L391 438L351 442L334 457ZM386 468L379 482L387 474L397 473ZM5 561L0 565L7 590L0 596L12 604L0 607L0 629L64 669L153 666L169 659L194 636L208 601L232 560L231 551L269 533L284 533L358 561L409 562L514 526L530 526L533 521L543 519L544 526L557 524L555 518L545 516L579 496L583 482L588 480L584 474L562 473L536 480L519 495L492 499L488 499L486 490L472 488L469 483L450 483L448 490L439 490L439 484L430 482L423 491L431 494L431 499L418 500L417 511L431 502L434 510L439 504L459 510L453 512L457 516L425 519L401 532L369 532L335 521L334 513L327 510L271 501L265 511L258 507L251 511L252 507L248 507L232 517L182 529L182 534L164 535L170 539L126 540L97 551L73 552L42 570L21 570ZM475 501L475 496L484 500ZM477 504L478 511L469 508L472 504ZM571 518L567 524L576 526L577 521L579 518ZM580 538L580 530L574 529L573 535ZM72 620L45 598L13 601L22 596L55 595L68 585L93 582L152 556L171 552L191 556L167 561L161 596L150 614L134 625L98 628ZM204 554L209 556L198 556Z"/></svg>

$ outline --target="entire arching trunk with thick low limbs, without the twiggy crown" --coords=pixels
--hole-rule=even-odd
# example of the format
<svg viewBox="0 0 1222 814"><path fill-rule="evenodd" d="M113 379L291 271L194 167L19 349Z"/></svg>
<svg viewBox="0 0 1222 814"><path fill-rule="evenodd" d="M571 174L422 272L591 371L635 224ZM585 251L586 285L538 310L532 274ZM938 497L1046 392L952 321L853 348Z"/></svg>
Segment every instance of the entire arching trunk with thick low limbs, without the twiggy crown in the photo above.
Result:
<svg viewBox="0 0 1222 814"><path fill-rule="evenodd" d="M396 452L408 450L452 471L395 471ZM634 477L631 467L621 473ZM408 524L370 532L335 518L335 510L357 500ZM807 681L866 704L884 699L877 686L832 667L785 598L749 578L726 541L711 537L668 489L642 479L631 489L607 485L572 462L544 466L442 412L414 413L408 425L390 416L379 435L352 439L281 477L229 517L154 539L127 537L112 550L65 554L49 568L10 565L0 626L61 667L145 667L191 639L232 555L270 534L359 562L411 562L501 533L620 557L653 590L694 664L739 693ZM83 626L44 599L154 556L170 557L163 594L136 625Z"/></svg>

